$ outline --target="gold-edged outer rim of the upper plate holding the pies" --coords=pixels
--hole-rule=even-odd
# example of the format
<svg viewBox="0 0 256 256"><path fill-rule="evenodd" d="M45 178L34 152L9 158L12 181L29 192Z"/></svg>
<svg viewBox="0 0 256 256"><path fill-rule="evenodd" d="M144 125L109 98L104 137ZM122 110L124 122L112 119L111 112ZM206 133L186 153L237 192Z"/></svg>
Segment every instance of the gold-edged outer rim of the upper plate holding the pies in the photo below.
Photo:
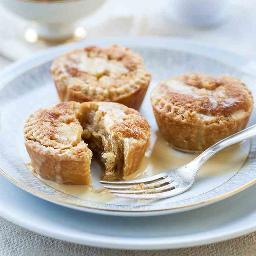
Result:
<svg viewBox="0 0 256 256"><path fill-rule="evenodd" d="M134 38L132 37L128 37L130 40L134 41ZM132 38L132 39L131 39ZM157 41L160 40L164 40L166 41L167 38L165 37L139 37L140 40L144 41L145 39L148 40L149 38L154 38L156 39ZM105 41L106 40L110 40L110 41L116 41L118 38L110 38L110 39L103 39L104 43L101 43L101 44L105 44ZM121 40L123 40L124 38L121 37ZM138 38L136 38L138 39ZM95 40L92 40L92 41L99 41L100 39L95 39ZM119 40L120 40L120 37L119 37ZM168 40L180 40L179 38L168 38ZM184 39L183 39L184 40ZM22 73L25 73L27 71L29 71L30 69L32 68L35 68L39 65L42 65L44 64L45 62L47 61L51 61L54 56L53 55L59 55L61 54L62 51L66 51L67 49L70 49L70 48L73 48L73 47L79 47L78 45L86 45L86 44L91 44L92 41L83 41L83 42L79 42L79 43L73 43L73 44L69 44L69 45L65 45L64 47L63 46L57 46L57 47L54 47L53 49L48 49L48 50L45 50L45 51L42 51L40 52L39 54L36 54L34 56L31 56L30 58L27 58L25 60L21 60L21 61L18 61L17 63L14 63L12 65L10 65L9 67L5 68L1 73L0 73L0 79L1 77L4 77L4 75L10 71L13 71L14 69L16 69L16 73L13 72L12 75L10 76L9 79L6 79L4 80L1 84L2 86L0 87L3 88L3 86L5 86L9 81L15 79L16 77L20 76ZM101 41L101 40L100 40ZM191 40L184 40L186 41L187 43L190 43L190 42L193 42L195 43L194 41L191 41ZM128 43L129 45L129 43ZM133 45L133 46L129 46L129 47L139 47L137 44L136 45ZM142 46L143 48L148 48L149 46ZM151 48L154 48L154 49L166 49L166 50L174 50L174 51L177 51L177 49L173 49L171 47L169 48L161 48L159 47L159 45L157 45L157 47L155 45L152 45L150 46ZM214 48L214 47L213 47ZM216 47L215 47L216 48ZM182 52L187 52L186 50L180 50ZM197 54L197 53L194 53L195 55L200 55L200 54ZM50 55L50 57L47 57L48 55ZM233 55L233 54L232 54ZM205 56L203 54L201 54L200 56ZM43 58L43 60L40 60L39 62L37 62L37 64L34 64L35 60L38 60ZM205 56L207 58L210 58L212 60L216 60L212 57L209 57L209 56ZM219 60L217 60L218 62L221 62ZM26 64L28 67L27 68L22 68L22 65ZM231 67L231 65L229 64L226 64L228 66ZM20 67L20 68L19 68ZM22 71L18 71L18 69L22 70ZM236 67L237 70L239 70L237 67ZM240 71L240 70L239 70ZM243 71L240 71L242 73L244 73ZM252 76L252 74L249 74L250 76ZM70 202L66 202L66 201L62 201L62 200L58 200L56 198L53 198L53 197L49 197L47 195L44 195L44 194L41 194L37 191L34 191L33 189L19 183L17 180L15 180L14 178L10 177L7 173L5 173L2 169L0 169L0 172L7 178L9 179L12 183L14 183L15 185L17 185L18 187L20 187L21 189L25 190L26 192L29 192L30 194L33 194L33 195L36 195L42 199L45 199L47 201L50 201L50 202L53 202L55 204L58 204L58 205L62 205L62 206L65 206L65 207L69 207L69 208L72 208L72 209L77 209L77 210L82 210L82 211L86 211L86 212L91 212L91 213L99 213L99 214L106 214L106 215L119 215L119 216L143 216L143 215L162 215L162 214L169 214L169 213L175 213L177 211L187 211L187 210L193 210L193 209L196 209L196 208L199 208L199 207L203 207L203 206L207 206L209 204L213 204L214 202L217 202L219 200L222 200L222 199L225 199L229 196L232 196L240 191L242 191L243 189L246 189L248 187L250 187L251 185L253 185L254 183L256 183L256 178L253 179L252 181L250 181L249 183L247 184L244 184L243 186L235 189L235 190L232 190L230 192L227 192L225 194L222 194L220 196L216 196L216 197L213 197L213 198L210 198L208 200L205 200L205 201L200 201L200 202L197 202L197 203L192 203L192 204L189 204L189 205L184 205L184 206L179 206L179 207L175 207L175 208L170 208L170 209L146 209L146 210L124 210L124 209L99 209L99 208L94 208L94 207L89 207L89 206L81 206L81 205L75 205L75 204L71 204ZM207 192L206 192L207 193ZM182 209L182 210L180 210Z"/></svg>

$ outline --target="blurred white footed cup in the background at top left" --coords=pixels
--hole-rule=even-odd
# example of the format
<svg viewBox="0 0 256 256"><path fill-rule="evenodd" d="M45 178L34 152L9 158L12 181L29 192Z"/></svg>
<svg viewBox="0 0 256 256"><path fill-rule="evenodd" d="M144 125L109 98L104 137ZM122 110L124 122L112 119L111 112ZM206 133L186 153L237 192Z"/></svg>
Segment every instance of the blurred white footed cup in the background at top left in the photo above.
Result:
<svg viewBox="0 0 256 256"><path fill-rule="evenodd" d="M63 41L74 36L74 22L91 14L105 0L0 0L11 12L33 23L38 38Z"/></svg>

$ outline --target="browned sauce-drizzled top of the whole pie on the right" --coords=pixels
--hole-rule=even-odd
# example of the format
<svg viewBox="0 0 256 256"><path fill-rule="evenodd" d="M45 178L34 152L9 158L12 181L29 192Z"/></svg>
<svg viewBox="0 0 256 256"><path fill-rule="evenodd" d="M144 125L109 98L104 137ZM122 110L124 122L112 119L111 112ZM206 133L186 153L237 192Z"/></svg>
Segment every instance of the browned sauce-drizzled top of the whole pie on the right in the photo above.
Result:
<svg viewBox="0 0 256 256"><path fill-rule="evenodd" d="M151 102L159 111L183 119L203 117L206 122L241 118L253 107L251 91L239 79L202 73L186 73L161 82L151 93Z"/></svg>

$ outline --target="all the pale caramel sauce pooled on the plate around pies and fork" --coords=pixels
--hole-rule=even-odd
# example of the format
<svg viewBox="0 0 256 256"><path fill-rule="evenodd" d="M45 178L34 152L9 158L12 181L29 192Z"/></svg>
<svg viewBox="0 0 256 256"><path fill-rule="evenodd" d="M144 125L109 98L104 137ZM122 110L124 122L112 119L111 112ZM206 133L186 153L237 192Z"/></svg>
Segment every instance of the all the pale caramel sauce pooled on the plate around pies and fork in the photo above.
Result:
<svg viewBox="0 0 256 256"><path fill-rule="evenodd" d="M232 175L232 173L235 174L243 166L248 153L249 147L244 149L241 143L218 152L201 167L197 174L197 181L199 182L200 179L207 178L206 182L211 183L213 177L225 174ZM166 143L158 131L152 132L150 145L145 153L140 168L133 174L124 177L124 179L139 179L169 171L189 163L198 155L199 153L183 153L177 151ZM30 164L27 164L26 166L30 171L33 171ZM99 166L97 166L98 165L93 165L92 172L94 171L93 169L99 168ZM37 174L35 175L48 186L78 198L101 203L107 203L116 198L109 193L107 189L96 189L94 186L60 185L50 180L45 180ZM99 175L97 175L97 178L94 178L97 179L94 181L94 184L97 184L97 186L99 183L98 176ZM225 180L223 178L223 182L226 180L226 178ZM215 185L213 184L213 186Z"/></svg>

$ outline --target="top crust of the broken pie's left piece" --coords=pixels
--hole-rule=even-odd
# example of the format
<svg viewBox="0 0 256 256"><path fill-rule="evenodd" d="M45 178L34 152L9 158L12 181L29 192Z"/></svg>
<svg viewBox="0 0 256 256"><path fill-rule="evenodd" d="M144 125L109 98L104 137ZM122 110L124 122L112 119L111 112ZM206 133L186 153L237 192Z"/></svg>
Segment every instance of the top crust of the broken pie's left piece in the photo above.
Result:
<svg viewBox="0 0 256 256"><path fill-rule="evenodd" d="M65 102L37 110L24 126L25 138L55 149L76 146L83 131L76 117L77 107L78 103Z"/></svg>

